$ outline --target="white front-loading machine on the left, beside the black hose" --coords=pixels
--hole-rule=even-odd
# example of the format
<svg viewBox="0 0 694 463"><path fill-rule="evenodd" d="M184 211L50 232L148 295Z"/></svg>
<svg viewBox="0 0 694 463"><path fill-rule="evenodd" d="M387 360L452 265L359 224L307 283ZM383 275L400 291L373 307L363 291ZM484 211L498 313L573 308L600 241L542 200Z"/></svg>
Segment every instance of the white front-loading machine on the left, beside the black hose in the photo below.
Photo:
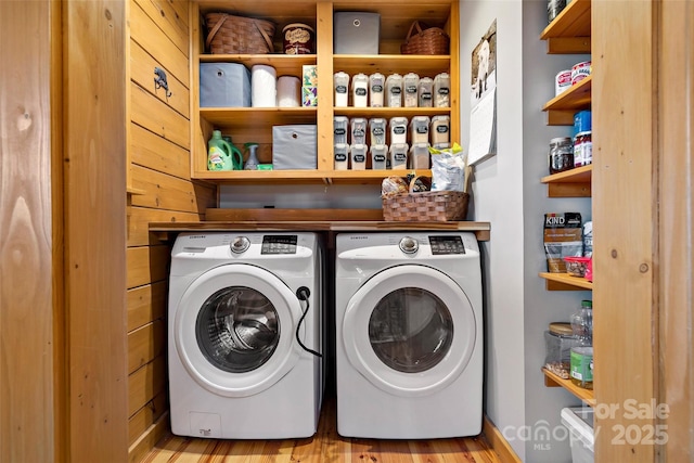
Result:
<svg viewBox="0 0 694 463"><path fill-rule="evenodd" d="M169 394L179 436L312 436L322 394L313 233L183 233L171 252Z"/></svg>

